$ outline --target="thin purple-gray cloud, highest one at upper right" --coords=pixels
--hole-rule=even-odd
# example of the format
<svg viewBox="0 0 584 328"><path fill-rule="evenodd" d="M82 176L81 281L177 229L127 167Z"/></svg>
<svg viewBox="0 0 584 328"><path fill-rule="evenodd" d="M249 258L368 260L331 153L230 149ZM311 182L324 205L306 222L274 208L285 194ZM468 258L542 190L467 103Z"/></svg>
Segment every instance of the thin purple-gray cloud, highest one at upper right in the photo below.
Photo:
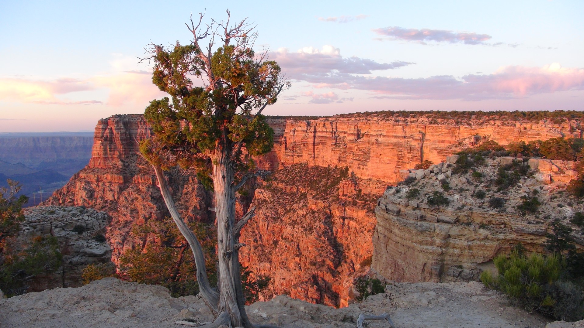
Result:
<svg viewBox="0 0 584 328"><path fill-rule="evenodd" d="M404 29L399 26L374 29L373 32L376 32L380 36L387 37L388 40L417 41L422 44L426 44L427 41L485 44L485 41L491 39L491 36L488 34L452 32L448 30Z"/></svg>

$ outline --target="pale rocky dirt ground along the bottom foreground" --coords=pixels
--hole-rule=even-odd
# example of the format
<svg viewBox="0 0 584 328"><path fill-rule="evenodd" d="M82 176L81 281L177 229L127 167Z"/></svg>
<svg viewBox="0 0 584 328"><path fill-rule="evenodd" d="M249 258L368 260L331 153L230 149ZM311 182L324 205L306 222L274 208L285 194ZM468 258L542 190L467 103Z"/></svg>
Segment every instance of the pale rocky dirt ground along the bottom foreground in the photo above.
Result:
<svg viewBox="0 0 584 328"><path fill-rule="evenodd" d="M248 306L255 323L282 328L355 327L360 313L391 315L397 328L544 328L546 320L508 305L505 296L486 290L479 282L436 284L397 283L385 294L362 303L335 309L288 296ZM0 299L0 328L7 327L187 327L176 324L190 318L196 323L212 317L195 296L173 298L157 285L123 282L115 278L94 281L79 288L55 288ZM369 327L389 327L368 322ZM555 322L547 328L584 327L584 322Z"/></svg>

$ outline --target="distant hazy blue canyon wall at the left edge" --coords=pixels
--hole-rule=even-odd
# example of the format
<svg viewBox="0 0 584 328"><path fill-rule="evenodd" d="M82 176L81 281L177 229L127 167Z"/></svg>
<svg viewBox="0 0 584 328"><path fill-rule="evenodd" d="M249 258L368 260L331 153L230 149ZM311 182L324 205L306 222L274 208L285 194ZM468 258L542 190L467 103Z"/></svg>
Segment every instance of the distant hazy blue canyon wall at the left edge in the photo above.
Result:
<svg viewBox="0 0 584 328"><path fill-rule="evenodd" d="M87 165L92 145L93 132L0 133L0 186L16 180L38 204Z"/></svg>

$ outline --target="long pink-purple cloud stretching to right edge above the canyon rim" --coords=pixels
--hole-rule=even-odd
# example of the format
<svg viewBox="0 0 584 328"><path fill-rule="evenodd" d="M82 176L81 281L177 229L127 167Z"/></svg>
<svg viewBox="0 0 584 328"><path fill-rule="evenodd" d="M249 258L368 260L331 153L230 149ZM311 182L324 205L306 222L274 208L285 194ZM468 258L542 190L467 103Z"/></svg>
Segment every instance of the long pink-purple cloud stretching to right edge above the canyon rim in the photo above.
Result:
<svg viewBox="0 0 584 328"><path fill-rule="evenodd" d="M544 67L502 67L493 74L470 74L460 79L451 75L429 78L367 77L354 74L308 76L305 81L324 83L327 88L369 90L375 98L387 99L513 99L541 93L584 89L584 69Z"/></svg>

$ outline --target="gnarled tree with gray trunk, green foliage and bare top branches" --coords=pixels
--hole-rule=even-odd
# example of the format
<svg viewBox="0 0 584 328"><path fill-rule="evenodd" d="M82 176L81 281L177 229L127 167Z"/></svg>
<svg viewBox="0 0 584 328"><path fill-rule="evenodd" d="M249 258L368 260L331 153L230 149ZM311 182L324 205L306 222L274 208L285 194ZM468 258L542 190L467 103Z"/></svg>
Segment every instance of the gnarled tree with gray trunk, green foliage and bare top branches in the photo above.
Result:
<svg viewBox="0 0 584 328"><path fill-rule="evenodd" d="M267 51L255 53L257 33L246 22L228 19L201 26L191 17L190 44L172 47L150 44L154 61L152 82L170 95L152 100L144 117L153 135L140 150L154 167L162 197L194 254L200 295L215 315L204 327L254 327L245 313L238 250L239 233L253 217L251 208L235 218L235 192L246 180L263 176L252 156L270 151L273 130L262 116L279 93L289 86ZM205 42L204 46L201 44ZM198 79L200 83L194 83ZM164 170L174 166L195 168L203 183L213 186L217 215L218 286L209 284L199 240L180 217L172 200ZM212 182L211 182L212 180Z"/></svg>

